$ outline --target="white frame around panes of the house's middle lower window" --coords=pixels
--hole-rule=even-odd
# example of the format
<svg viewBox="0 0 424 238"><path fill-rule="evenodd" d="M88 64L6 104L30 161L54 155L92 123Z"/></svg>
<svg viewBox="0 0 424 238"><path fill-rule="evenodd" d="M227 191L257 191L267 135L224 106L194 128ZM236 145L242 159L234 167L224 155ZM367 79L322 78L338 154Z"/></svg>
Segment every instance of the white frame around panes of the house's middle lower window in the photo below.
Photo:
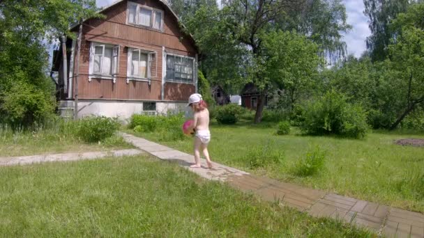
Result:
<svg viewBox="0 0 424 238"><path fill-rule="evenodd" d="M147 54L147 77L135 77L131 74L131 60L132 60L132 52L133 51L139 51L139 54ZM152 61L152 56L155 55L155 61ZM152 64L155 64L155 72L151 72ZM158 54L156 51L149 51L146 49L139 49L135 47L128 47L128 60L127 60L127 84L130 84L130 81L147 81L149 82L149 85L151 84L151 78L158 76Z"/></svg>

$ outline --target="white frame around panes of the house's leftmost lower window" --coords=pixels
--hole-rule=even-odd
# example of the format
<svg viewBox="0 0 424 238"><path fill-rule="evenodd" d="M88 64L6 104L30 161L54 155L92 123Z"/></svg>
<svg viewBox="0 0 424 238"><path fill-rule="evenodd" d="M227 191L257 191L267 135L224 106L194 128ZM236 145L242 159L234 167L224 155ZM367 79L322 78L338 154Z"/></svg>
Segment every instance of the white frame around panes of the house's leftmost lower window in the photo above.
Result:
<svg viewBox="0 0 424 238"><path fill-rule="evenodd" d="M94 53L96 47L103 47L103 55L105 54L105 47L112 47L112 58L110 59L111 64L111 74L99 74L94 72ZM119 56L121 54L120 45L112 45L100 42L91 42L90 47L90 59L89 59L89 81L91 79L112 79L116 83L116 76L119 74ZM101 65L100 65L101 69Z"/></svg>

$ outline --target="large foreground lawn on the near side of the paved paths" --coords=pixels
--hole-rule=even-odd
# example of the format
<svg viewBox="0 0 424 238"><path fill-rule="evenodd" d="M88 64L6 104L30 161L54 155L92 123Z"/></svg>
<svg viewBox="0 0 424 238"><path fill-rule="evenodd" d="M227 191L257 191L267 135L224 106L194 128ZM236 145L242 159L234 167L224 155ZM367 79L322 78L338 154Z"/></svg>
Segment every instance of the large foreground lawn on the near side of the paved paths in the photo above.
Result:
<svg viewBox="0 0 424 238"><path fill-rule="evenodd" d="M0 167L1 237L376 237L149 157Z"/></svg>

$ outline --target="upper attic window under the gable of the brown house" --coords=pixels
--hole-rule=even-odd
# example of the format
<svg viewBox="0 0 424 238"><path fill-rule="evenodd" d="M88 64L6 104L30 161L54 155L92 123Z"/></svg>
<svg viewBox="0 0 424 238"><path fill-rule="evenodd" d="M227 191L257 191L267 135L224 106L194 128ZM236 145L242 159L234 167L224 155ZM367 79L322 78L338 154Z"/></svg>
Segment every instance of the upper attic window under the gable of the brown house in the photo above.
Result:
<svg viewBox="0 0 424 238"><path fill-rule="evenodd" d="M128 24L162 30L163 12L154 8L128 2Z"/></svg>

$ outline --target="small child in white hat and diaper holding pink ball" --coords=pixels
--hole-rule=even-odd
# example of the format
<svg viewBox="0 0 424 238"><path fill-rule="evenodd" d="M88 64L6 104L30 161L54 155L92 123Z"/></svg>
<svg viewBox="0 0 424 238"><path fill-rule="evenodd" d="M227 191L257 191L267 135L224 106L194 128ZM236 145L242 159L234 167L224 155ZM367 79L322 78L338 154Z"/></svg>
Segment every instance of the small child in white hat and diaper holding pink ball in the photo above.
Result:
<svg viewBox="0 0 424 238"><path fill-rule="evenodd" d="M208 143L211 141L211 132L209 132L209 110L207 104L202 100L202 95L195 93L190 95L188 106L194 112L195 127L195 164L190 168L200 168L200 150L206 157L207 168L212 168L212 162L209 158Z"/></svg>

